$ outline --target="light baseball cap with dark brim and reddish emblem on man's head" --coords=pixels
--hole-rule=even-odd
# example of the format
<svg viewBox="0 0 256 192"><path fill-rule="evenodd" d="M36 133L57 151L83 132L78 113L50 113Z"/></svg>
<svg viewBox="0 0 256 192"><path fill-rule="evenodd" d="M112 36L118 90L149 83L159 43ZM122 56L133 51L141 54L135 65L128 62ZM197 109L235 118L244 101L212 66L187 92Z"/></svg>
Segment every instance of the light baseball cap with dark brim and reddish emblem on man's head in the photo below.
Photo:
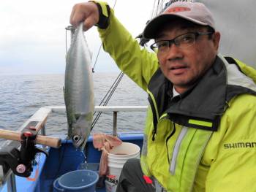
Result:
<svg viewBox="0 0 256 192"><path fill-rule="evenodd" d="M165 23L171 23L175 18L183 18L201 26L211 26L215 29L214 18L208 8L198 2L176 1L170 4L164 12L149 21L143 31L143 37L154 39Z"/></svg>

